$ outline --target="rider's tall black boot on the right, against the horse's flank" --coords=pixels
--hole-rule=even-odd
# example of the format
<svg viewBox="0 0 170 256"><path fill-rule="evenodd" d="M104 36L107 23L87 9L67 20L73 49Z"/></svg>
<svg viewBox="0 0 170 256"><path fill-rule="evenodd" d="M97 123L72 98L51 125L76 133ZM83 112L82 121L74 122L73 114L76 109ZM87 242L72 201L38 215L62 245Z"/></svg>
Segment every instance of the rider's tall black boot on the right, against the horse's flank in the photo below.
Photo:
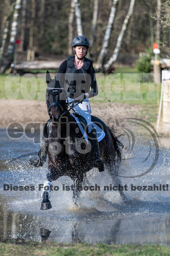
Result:
<svg viewBox="0 0 170 256"><path fill-rule="evenodd" d="M94 167L98 168L99 172L103 172L105 170L104 162L100 156L99 143L97 140L96 129L94 127L92 128L92 131L89 133L89 138L90 138L90 142L91 142L91 149L93 152Z"/></svg>

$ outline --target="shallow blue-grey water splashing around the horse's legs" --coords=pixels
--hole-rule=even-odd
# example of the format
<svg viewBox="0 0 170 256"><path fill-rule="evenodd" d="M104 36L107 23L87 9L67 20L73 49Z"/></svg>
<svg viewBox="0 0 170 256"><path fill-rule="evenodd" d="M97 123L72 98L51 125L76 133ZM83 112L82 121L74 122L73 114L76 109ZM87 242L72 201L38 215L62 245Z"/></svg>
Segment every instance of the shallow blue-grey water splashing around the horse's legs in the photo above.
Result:
<svg viewBox="0 0 170 256"><path fill-rule="evenodd" d="M100 186L100 191L82 191L80 208L72 204L72 191L63 191L63 184L71 186L70 178L63 176L52 182L58 191L51 192L52 208L41 211L41 191L47 173L47 162L41 168L30 168L28 159L39 150L39 144L22 138L11 140L5 130L0 130L0 237L57 242L90 243L158 243L170 244L170 200L168 149L160 149L154 168L141 177L119 177L127 185L125 195L134 199L132 204L123 204L118 191L104 191L104 186L114 186L109 172L99 173L97 169L87 174L89 182ZM136 176L146 171L155 157L152 138L135 137L130 152L127 138L123 150L120 176ZM15 159L21 155L29 154ZM128 159L127 159L128 158ZM129 159L130 158L130 159ZM125 160L127 159L127 160ZM34 186L34 191L4 191L4 184L12 186ZM132 191L133 186L156 186L158 191ZM165 185L164 190L162 185ZM124 187L125 188L125 187ZM158 187L159 188L159 187Z"/></svg>

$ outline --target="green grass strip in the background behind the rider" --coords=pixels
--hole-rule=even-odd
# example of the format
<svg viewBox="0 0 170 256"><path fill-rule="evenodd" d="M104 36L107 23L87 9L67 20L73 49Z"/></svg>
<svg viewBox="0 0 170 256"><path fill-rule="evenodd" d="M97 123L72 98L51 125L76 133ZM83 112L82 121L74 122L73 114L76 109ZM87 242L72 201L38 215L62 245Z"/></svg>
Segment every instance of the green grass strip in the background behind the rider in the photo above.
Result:
<svg viewBox="0 0 170 256"><path fill-rule="evenodd" d="M41 70L42 72L43 70ZM152 81L152 74L138 73L136 68L116 68L114 74L96 73L99 93L90 99L93 104L118 102L142 106L149 122L156 121L160 99L160 85ZM45 73L24 76L0 75L0 98L45 100Z"/></svg>

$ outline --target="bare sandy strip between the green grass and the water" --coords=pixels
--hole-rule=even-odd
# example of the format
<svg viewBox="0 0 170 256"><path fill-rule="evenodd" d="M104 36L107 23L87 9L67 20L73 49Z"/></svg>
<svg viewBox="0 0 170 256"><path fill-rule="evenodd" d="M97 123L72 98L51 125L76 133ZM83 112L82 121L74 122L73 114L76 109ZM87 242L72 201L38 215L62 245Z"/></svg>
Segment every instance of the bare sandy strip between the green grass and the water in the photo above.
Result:
<svg viewBox="0 0 170 256"><path fill-rule="evenodd" d="M28 122L46 122L49 118L45 101L38 100L0 100L0 128L6 128L10 122L26 124ZM102 103L91 104L92 114L99 117L107 125L115 125L116 119L139 117L141 106Z"/></svg>

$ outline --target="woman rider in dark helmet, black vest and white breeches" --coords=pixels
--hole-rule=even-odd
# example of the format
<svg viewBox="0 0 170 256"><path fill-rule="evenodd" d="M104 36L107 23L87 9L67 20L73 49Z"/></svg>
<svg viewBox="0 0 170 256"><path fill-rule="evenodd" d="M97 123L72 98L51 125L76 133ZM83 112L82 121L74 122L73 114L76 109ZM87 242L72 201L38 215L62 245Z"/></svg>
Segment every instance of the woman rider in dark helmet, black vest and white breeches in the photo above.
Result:
<svg viewBox="0 0 170 256"><path fill-rule="evenodd" d="M98 94L93 63L85 57L89 48L89 40L85 36L77 36L73 39L72 48L75 56L68 57L68 59L59 66L55 76L55 87L61 86L61 88L64 87L67 90L69 102L75 99L77 100L76 102L82 102L83 100L82 104L78 104L73 110L76 114L83 116L87 122L88 135L90 138L93 138L90 141L93 150L94 167L99 168L99 171L102 172L104 170L104 164L100 156L96 130L91 125L91 109L88 100L88 98ZM62 74L64 74L64 77ZM58 83L59 86L57 86ZM47 133L44 130L42 148L38 153L38 157L30 159L30 164L35 167L42 166L46 160L47 151Z"/></svg>

